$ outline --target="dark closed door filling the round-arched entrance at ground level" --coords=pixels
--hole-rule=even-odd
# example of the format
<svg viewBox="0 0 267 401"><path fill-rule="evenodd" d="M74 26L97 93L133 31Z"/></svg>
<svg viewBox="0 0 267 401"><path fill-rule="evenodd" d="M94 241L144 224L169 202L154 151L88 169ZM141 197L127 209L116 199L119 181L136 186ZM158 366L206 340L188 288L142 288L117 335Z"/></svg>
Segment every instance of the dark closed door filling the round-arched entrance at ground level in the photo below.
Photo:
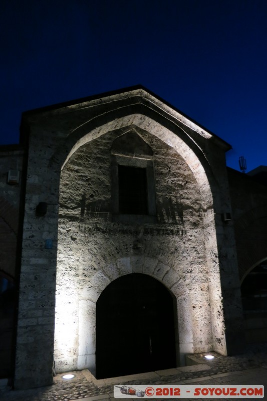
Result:
<svg viewBox="0 0 267 401"><path fill-rule="evenodd" d="M96 303L96 377L176 366L173 298L158 280L129 274Z"/></svg>

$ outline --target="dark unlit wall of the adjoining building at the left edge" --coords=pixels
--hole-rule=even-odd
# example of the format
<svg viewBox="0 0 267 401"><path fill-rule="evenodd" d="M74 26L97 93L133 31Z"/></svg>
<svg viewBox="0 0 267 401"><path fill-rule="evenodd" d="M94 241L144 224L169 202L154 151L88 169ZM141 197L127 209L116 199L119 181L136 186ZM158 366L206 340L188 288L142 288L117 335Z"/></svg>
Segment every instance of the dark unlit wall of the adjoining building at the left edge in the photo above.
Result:
<svg viewBox="0 0 267 401"><path fill-rule="evenodd" d="M0 378L14 373L15 315L19 289L18 239L23 190L24 148L0 147ZM8 181L9 171L17 179ZM21 238L20 238L21 240Z"/></svg>

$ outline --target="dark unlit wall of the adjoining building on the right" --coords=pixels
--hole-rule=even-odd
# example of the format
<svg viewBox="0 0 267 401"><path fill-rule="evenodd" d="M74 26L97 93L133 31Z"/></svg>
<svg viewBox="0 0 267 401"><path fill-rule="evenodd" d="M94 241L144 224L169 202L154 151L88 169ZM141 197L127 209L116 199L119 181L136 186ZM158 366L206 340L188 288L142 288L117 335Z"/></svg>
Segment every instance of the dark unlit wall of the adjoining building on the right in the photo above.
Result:
<svg viewBox="0 0 267 401"><path fill-rule="evenodd" d="M248 174L228 168L240 285L251 270L267 260L267 181L265 171L266 167L264 166ZM256 175L253 175L255 173ZM262 280L262 276L253 275L253 277ZM254 286L255 283L251 285L250 297L254 296ZM264 281L257 286L263 290ZM264 297L264 291L259 291L258 295ZM261 306L254 309L249 311L244 309L245 335L248 342L264 341L267 333L265 308Z"/></svg>

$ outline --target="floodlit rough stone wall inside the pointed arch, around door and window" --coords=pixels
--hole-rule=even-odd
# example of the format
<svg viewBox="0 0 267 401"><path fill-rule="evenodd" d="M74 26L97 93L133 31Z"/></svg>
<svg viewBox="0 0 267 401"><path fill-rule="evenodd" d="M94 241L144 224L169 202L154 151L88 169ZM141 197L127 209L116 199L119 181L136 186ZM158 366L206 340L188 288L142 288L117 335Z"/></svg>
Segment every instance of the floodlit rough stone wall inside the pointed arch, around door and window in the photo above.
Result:
<svg viewBox="0 0 267 401"><path fill-rule="evenodd" d="M112 222L110 149L120 134L108 132L80 147L62 171L57 371L77 367L94 371L95 302L112 280L134 272L153 275L177 297L178 353L180 347L182 353L212 348L203 219L196 180L172 147L142 131L141 137L154 150L157 222Z"/></svg>

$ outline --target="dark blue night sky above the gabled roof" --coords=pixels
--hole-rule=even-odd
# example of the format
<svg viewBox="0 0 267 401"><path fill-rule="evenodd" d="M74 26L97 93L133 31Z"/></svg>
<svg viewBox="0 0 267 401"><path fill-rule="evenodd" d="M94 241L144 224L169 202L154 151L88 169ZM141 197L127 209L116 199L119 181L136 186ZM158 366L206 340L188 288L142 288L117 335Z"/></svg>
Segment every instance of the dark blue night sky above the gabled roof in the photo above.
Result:
<svg viewBox="0 0 267 401"><path fill-rule="evenodd" d="M265 0L2 0L0 143L23 111L142 84L267 165Z"/></svg>

